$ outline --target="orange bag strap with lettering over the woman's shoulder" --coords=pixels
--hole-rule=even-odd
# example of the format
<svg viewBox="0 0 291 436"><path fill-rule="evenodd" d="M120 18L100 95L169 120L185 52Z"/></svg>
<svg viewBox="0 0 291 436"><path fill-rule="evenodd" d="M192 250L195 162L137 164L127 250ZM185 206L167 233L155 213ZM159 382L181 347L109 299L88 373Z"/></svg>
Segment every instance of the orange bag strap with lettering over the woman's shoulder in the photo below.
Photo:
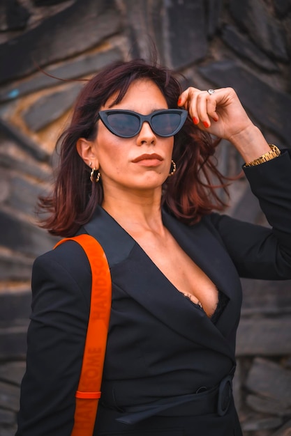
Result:
<svg viewBox="0 0 291 436"><path fill-rule="evenodd" d="M71 436L92 436L101 392L103 364L110 320L112 282L103 248L93 236L65 238L55 247L73 240L84 249L91 267L91 306L80 381L76 392L74 427ZM54 248L55 248L54 247Z"/></svg>

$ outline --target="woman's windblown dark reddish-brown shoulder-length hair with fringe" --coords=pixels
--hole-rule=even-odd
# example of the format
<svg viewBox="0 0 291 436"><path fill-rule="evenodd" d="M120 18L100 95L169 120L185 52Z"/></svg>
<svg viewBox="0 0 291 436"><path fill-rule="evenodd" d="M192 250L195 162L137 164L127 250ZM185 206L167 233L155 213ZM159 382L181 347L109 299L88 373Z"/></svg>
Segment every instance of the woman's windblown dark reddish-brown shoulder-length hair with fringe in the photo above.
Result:
<svg viewBox="0 0 291 436"><path fill-rule="evenodd" d="M142 59L117 61L107 65L90 79L77 98L68 128L59 137L60 160L54 191L39 198L39 208L49 215L41 221L52 235L71 236L89 221L96 205L103 201L102 182L89 180L89 168L77 153L77 140L94 140L96 119L112 95L118 104L128 87L137 79L150 79L161 89L169 108L177 108L181 86L174 73L156 63ZM212 156L217 141L199 130L188 116L186 123L174 137L173 156L177 171L168 178L163 189L162 202L168 212L180 221L194 224L211 210L221 210L223 201L216 192L225 188L225 178L216 168ZM213 185L213 180L218 182Z"/></svg>

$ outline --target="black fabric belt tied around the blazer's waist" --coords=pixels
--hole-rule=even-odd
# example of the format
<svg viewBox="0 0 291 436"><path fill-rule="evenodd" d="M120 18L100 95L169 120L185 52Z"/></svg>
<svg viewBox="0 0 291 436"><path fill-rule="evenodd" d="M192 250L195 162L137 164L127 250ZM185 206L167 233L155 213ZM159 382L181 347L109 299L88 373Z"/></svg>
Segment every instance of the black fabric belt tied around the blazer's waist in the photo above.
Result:
<svg viewBox="0 0 291 436"><path fill-rule="evenodd" d="M224 416L232 403L233 372L227 375L214 388L181 395L174 398L163 398L154 403L125 407L124 415L117 421L135 424L150 416L197 416L216 413Z"/></svg>

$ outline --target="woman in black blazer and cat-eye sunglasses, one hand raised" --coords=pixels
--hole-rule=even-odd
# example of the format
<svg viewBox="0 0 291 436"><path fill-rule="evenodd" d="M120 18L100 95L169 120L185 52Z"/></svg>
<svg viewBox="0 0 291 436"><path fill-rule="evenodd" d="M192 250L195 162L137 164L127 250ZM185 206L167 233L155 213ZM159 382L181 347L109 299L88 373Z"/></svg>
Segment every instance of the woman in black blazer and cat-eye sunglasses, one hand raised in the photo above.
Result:
<svg viewBox="0 0 291 436"><path fill-rule="evenodd" d="M209 180L223 179L209 133L243 157L272 229L213 212L221 203ZM291 278L288 150L268 145L231 88L181 92L164 68L114 63L77 100L43 207L50 233L93 235L110 264L94 434L241 435L231 391L239 277ZM40 256L32 289L17 436L66 436L91 290L80 246Z"/></svg>

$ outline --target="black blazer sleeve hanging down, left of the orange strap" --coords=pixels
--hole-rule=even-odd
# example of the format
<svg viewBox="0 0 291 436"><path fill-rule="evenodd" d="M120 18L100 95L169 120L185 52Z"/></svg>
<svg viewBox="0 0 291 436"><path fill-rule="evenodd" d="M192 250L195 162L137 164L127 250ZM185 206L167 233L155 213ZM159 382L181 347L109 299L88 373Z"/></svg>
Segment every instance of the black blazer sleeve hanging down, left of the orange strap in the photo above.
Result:
<svg viewBox="0 0 291 436"><path fill-rule="evenodd" d="M66 242L33 264L27 371L16 436L70 436L87 334L91 270Z"/></svg>

